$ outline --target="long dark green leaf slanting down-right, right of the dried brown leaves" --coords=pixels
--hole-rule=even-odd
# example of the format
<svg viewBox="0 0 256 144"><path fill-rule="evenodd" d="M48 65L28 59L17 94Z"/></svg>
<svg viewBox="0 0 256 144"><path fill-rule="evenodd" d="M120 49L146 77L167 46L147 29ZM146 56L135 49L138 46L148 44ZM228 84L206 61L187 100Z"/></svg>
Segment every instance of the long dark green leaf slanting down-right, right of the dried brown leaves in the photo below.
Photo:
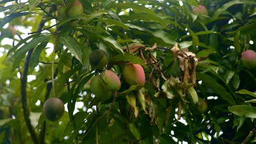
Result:
<svg viewBox="0 0 256 144"><path fill-rule="evenodd" d="M228 101L230 105L236 105L236 101L232 98L232 95L225 91L225 88L220 85L213 77L202 73L196 73L196 77L202 80L207 87L211 88L216 94L218 94L222 99Z"/></svg>

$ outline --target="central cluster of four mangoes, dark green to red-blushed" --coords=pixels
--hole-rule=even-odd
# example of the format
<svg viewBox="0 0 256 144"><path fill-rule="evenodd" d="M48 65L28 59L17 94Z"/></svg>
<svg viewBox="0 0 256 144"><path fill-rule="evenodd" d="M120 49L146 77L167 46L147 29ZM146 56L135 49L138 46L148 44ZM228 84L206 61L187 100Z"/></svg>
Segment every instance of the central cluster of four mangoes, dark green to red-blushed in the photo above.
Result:
<svg viewBox="0 0 256 144"><path fill-rule="evenodd" d="M102 70L108 62L108 55L104 50L95 50L90 54L89 62L92 69ZM139 64L127 63L123 67L123 79L130 86L137 85L142 88L145 83L144 70ZM112 70L96 74L90 83L91 92L102 100L109 99L120 87L121 81Z"/></svg>

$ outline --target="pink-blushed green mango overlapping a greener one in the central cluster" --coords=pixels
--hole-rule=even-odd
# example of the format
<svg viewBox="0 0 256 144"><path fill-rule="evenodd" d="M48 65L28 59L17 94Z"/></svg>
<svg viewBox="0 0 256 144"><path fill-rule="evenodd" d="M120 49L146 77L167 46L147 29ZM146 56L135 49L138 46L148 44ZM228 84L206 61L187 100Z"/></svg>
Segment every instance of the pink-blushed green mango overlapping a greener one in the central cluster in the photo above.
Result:
<svg viewBox="0 0 256 144"><path fill-rule="evenodd" d="M119 77L111 70L103 71L100 75L100 80L102 81L103 87L109 91L115 92L121 87Z"/></svg>

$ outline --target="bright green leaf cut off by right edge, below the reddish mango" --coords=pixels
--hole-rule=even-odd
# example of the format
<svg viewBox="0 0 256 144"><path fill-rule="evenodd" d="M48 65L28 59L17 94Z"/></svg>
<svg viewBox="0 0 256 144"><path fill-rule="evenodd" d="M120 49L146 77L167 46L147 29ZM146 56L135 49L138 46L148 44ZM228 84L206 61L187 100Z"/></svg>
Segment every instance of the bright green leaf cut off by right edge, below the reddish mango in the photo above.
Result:
<svg viewBox="0 0 256 144"><path fill-rule="evenodd" d="M256 107L247 105L229 106L228 110L237 116L256 118Z"/></svg>

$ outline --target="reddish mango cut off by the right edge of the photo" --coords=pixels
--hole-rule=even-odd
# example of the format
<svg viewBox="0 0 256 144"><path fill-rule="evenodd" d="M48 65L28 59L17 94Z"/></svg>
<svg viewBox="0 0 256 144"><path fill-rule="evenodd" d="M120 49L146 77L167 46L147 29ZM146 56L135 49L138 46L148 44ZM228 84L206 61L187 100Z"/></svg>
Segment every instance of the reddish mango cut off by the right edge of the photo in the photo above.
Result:
<svg viewBox="0 0 256 144"><path fill-rule="evenodd" d="M256 67L256 52L253 50L246 50L242 53L242 64L248 69L253 69Z"/></svg>

